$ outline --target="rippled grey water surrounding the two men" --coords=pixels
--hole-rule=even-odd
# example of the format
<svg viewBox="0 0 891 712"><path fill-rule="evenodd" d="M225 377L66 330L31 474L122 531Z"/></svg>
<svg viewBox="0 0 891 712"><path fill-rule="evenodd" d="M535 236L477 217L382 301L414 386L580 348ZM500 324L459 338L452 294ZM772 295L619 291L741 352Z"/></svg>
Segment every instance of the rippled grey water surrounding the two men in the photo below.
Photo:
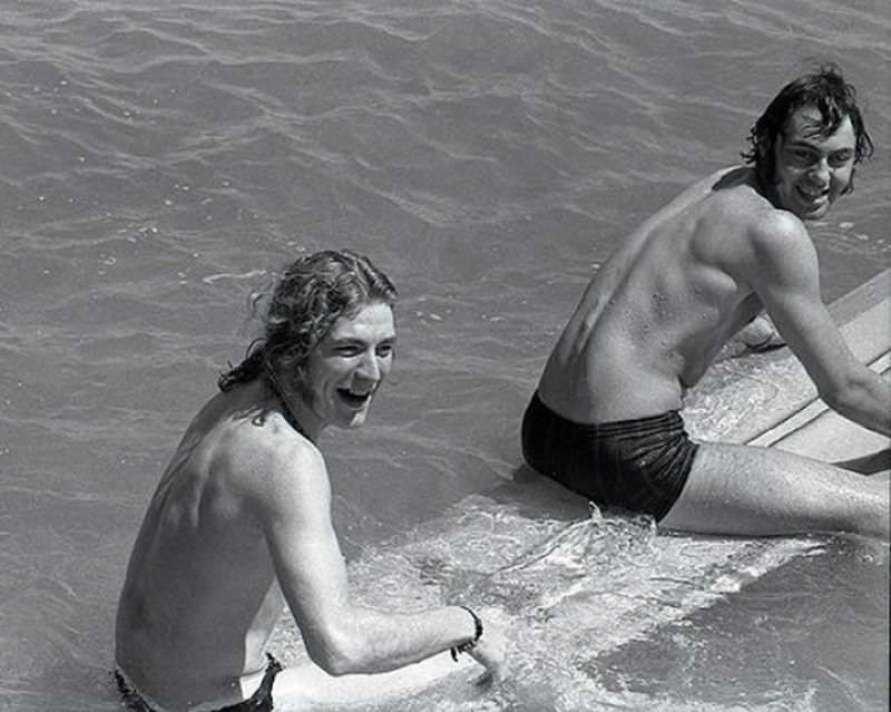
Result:
<svg viewBox="0 0 891 712"><path fill-rule="evenodd" d="M424 595L472 584L528 624L528 683L482 701L447 685L438 704L882 709L887 562L822 543L619 641L596 601L560 603L554 628L533 615L571 585L535 547L584 539L585 513L486 497L515 475L522 408L591 270L733 163L813 57L844 66L879 147L813 228L826 298L891 263L889 37L878 0L3 2L0 709L118 709L114 608L147 498L243 352L248 292L323 246L370 254L402 294L393 383L365 429L324 441L359 591L420 527L392 589L423 570ZM500 513L513 544L428 521L457 503ZM628 570L653 565L634 547L683 560L674 539L631 539ZM591 596L616 559L570 556L567 575ZM533 613L511 607L515 575ZM630 621L650 594L670 608L636 591Z"/></svg>

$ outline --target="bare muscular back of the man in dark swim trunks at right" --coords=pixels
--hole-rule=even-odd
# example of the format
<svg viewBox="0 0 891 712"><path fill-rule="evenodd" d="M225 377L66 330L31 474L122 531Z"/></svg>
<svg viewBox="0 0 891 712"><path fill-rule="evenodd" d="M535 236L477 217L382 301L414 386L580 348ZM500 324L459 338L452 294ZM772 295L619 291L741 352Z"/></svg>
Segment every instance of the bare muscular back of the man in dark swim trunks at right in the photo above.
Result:
<svg viewBox="0 0 891 712"><path fill-rule="evenodd" d="M752 172L734 168L640 225L589 283L545 368L541 400L576 422L679 409L762 308L734 265L750 248L745 216L770 209Z"/></svg>

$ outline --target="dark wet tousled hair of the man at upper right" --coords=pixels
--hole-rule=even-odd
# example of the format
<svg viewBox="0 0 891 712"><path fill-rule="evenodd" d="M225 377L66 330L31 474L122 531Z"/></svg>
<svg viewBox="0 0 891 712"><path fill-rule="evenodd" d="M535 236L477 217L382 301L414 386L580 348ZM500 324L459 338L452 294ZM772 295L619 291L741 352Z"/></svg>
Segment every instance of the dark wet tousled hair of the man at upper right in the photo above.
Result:
<svg viewBox="0 0 891 712"><path fill-rule="evenodd" d="M751 148L743 152L742 157L745 163L755 164L762 185L773 183L776 142L784 134L790 117L805 106L813 106L820 111L814 135L831 136L845 117L850 117L856 139L854 164L872 156L872 139L856 105L856 90L844 80L838 65L828 62L783 87L750 130L747 140ZM853 191L853 185L852 173L851 184L845 192Z"/></svg>

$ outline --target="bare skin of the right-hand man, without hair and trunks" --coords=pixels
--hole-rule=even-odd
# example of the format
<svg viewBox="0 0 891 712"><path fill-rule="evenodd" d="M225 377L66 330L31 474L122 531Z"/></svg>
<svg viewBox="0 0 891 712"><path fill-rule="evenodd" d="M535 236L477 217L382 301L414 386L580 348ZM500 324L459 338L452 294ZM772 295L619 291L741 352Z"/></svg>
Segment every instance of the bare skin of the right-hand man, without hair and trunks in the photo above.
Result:
<svg viewBox="0 0 891 712"><path fill-rule="evenodd" d="M770 156L768 184L754 167L718 170L618 243L539 381L537 396L559 417L555 423L599 426L682 410L723 347L766 311L779 338L761 323L743 334L746 342L785 342L830 408L891 436L891 386L859 361L821 298L819 255L805 223L825 216L850 189L856 137L848 116L829 136L820 119L813 104L787 118ZM547 431L530 429L525 448L550 455L571 439L539 440ZM891 536L887 481L780 449L697 446L679 497L658 523L664 529ZM597 477L595 468L581 469L566 477L582 484ZM634 491L626 494L634 499Z"/></svg>

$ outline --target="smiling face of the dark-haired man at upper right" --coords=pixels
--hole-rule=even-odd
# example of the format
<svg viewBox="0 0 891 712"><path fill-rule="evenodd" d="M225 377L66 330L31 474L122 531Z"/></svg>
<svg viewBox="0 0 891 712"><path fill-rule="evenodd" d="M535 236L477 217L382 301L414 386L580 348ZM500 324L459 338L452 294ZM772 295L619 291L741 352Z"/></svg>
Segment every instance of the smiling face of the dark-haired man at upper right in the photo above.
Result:
<svg viewBox="0 0 891 712"><path fill-rule="evenodd" d="M854 168L854 128L845 117L829 137L816 128L820 111L802 107L786 123L774 148L774 187L780 207L801 220L823 217L851 184Z"/></svg>

